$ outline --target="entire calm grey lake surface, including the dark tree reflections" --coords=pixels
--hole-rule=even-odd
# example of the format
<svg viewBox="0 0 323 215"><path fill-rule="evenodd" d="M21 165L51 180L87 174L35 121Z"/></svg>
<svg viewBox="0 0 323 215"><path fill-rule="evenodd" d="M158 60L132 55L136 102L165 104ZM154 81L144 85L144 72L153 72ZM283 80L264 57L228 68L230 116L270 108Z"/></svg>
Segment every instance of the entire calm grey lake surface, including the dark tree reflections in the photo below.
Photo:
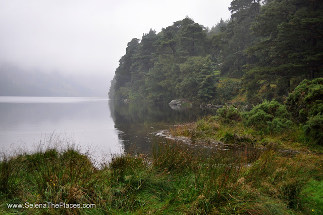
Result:
<svg viewBox="0 0 323 215"><path fill-rule="evenodd" d="M214 114L213 110L172 109L105 98L0 97L0 149L17 145L28 149L56 134L81 146L90 145L96 154L121 153L134 144L137 150L147 152L160 130L209 114Z"/></svg>

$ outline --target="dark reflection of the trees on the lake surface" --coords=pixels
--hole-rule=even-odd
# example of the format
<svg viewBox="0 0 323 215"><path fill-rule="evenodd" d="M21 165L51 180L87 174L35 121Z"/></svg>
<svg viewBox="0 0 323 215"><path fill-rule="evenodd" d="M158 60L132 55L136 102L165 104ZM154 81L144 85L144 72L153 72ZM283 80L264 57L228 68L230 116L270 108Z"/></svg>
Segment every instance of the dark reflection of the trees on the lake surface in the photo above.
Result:
<svg viewBox="0 0 323 215"><path fill-rule="evenodd" d="M152 105L122 101L109 101L115 127L121 131L118 137L124 141L125 150L133 144L147 152L151 138L169 125L195 121L200 117L214 114L212 110L200 108L172 109L168 105Z"/></svg>

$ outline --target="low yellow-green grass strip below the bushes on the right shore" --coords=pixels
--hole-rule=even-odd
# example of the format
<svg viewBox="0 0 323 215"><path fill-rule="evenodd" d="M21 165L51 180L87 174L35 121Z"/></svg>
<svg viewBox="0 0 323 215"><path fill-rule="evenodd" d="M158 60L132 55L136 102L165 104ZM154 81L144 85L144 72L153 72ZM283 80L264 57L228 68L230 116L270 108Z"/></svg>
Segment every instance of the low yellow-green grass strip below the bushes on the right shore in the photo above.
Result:
<svg viewBox="0 0 323 215"><path fill-rule="evenodd" d="M323 150L319 146L306 141L303 129L291 126L288 131L282 133L263 133L254 127L244 126L242 121L224 123L221 117L208 116L197 122L179 124L170 127L170 135L173 137L187 137L192 141L206 143L221 142L228 145L246 145L260 149L284 149L292 151Z"/></svg>

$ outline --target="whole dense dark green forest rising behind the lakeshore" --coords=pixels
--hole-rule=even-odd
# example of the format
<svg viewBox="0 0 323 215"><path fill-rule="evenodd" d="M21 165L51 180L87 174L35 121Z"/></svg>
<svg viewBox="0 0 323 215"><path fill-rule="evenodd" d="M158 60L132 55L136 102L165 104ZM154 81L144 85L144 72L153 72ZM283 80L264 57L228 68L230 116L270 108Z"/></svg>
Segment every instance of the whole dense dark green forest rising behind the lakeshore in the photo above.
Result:
<svg viewBox="0 0 323 215"><path fill-rule="evenodd" d="M211 29L186 17L128 42L110 98L168 103L284 101L322 76L319 0L233 0Z"/></svg>

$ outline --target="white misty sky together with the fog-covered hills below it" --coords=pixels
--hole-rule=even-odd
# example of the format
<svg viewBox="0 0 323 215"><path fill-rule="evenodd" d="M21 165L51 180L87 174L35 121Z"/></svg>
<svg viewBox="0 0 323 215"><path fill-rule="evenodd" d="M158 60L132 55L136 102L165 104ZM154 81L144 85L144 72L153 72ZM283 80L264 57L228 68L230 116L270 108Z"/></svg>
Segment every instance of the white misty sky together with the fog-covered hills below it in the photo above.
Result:
<svg viewBox="0 0 323 215"><path fill-rule="evenodd" d="M228 0L0 0L0 94L106 96L132 38L185 16L212 27L230 17L229 6Z"/></svg>

